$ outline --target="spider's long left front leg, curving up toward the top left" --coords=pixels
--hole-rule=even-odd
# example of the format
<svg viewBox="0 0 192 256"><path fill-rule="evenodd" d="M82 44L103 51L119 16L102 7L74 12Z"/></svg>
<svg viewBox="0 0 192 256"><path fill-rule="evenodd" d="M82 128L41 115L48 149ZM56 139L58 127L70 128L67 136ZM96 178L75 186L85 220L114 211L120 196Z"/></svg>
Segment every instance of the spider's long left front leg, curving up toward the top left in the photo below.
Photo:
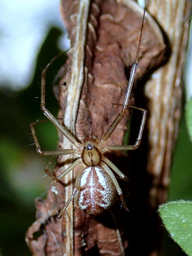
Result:
<svg viewBox="0 0 192 256"><path fill-rule="evenodd" d="M56 56L57 57L57 56ZM55 57L55 58L56 58ZM58 120L55 118L55 116L52 115L52 113L45 108L45 77L46 77L46 71L49 67L49 65L55 60L55 58L52 59L52 61L47 64L47 66L44 68L44 70L41 73L41 109L44 112L44 115L47 116L47 118L58 128L59 131L61 131L62 134L76 147L81 149L82 145L79 143L73 135L70 134L67 129L61 125Z"/></svg>

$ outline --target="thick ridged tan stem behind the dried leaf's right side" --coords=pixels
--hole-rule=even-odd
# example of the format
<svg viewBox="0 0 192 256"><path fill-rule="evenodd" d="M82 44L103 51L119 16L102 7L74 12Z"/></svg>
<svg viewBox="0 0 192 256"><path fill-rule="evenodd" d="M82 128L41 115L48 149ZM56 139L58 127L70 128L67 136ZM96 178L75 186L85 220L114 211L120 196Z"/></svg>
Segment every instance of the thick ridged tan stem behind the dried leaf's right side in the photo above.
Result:
<svg viewBox="0 0 192 256"><path fill-rule="evenodd" d="M182 78L186 49L189 41L189 17L191 0L153 0L147 8L162 27L167 38L165 52L167 64L157 70L145 86L148 99L148 163L147 173L151 179L149 208L155 213L158 205L167 199L170 181L172 154L177 139L182 102ZM154 218L152 231L154 250L150 255L159 255L160 230L158 219ZM153 229L153 228L152 228ZM159 245L158 245L159 244Z"/></svg>

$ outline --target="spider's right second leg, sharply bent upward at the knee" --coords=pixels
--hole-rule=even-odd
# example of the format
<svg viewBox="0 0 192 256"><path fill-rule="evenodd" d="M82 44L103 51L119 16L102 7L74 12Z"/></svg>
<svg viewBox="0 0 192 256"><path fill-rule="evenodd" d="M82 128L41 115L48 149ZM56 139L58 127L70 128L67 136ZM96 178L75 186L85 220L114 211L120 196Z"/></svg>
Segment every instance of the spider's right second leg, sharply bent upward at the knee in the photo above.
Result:
<svg viewBox="0 0 192 256"><path fill-rule="evenodd" d="M143 129L144 129L144 126L145 126L145 121L146 121L146 118L147 118L147 110L145 110L143 108L133 107L133 106L130 106L130 107L143 111L143 116L142 116L142 119L141 119L139 134L138 134L138 137L137 137L137 140L136 140L135 144L134 145L107 145L105 148L102 148L103 153L105 151L108 151L108 150L133 150L133 149L138 148L138 146L140 145L141 137L142 137L142 134L143 134Z"/></svg>

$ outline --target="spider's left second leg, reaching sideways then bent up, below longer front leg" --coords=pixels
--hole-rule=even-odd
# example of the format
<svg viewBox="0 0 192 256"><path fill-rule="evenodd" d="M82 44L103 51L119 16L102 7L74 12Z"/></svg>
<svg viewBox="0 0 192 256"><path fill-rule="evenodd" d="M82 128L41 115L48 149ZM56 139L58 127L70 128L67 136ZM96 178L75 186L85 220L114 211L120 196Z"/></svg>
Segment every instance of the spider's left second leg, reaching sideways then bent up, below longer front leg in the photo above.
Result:
<svg viewBox="0 0 192 256"><path fill-rule="evenodd" d="M64 155L64 154L74 154L77 153L77 150L74 148L70 148L70 149L58 149L58 150L50 150L50 151L42 151L41 147L39 145L38 142L38 137L36 135L35 132L35 127L34 125L36 123L39 123L41 121L38 122L33 122L32 124L30 124L30 128L31 128L31 132L32 132L32 137L33 140L35 142L35 147L36 147L36 151L41 155L41 156L59 156L59 155Z"/></svg>

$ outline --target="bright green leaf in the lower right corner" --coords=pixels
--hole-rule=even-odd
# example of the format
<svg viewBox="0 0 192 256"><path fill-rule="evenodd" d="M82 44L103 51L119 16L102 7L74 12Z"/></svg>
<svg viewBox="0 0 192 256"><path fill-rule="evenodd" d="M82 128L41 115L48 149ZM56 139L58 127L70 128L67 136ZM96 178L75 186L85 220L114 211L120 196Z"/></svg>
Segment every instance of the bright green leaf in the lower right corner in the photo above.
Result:
<svg viewBox="0 0 192 256"><path fill-rule="evenodd" d="M158 209L172 239L192 256L192 201L172 201Z"/></svg>

